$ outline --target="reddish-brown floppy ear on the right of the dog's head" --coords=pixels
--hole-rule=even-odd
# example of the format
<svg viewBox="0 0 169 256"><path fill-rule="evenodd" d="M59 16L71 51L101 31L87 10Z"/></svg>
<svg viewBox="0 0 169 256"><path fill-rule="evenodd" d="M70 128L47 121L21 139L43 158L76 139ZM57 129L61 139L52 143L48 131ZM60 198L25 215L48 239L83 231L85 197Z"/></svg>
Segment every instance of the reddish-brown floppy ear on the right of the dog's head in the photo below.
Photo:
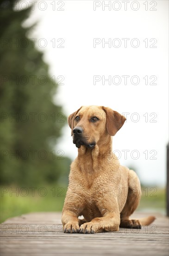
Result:
<svg viewBox="0 0 169 256"><path fill-rule="evenodd" d="M102 107L106 113L106 128L109 135L114 136L123 126L126 118L111 108Z"/></svg>

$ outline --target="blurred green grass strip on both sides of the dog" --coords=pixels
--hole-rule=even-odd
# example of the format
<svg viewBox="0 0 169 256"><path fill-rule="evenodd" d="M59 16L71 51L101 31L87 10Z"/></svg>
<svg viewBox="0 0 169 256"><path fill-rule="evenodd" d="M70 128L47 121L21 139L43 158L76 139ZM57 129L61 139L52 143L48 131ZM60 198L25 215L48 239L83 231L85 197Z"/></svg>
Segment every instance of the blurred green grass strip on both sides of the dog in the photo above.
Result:
<svg viewBox="0 0 169 256"><path fill-rule="evenodd" d="M1 187L0 222L7 218L20 216L29 212L38 211L62 211L66 186L45 186L43 188L19 189L13 187ZM13 192L15 191L15 192ZM165 213L165 189L142 188L142 198L138 211L156 211Z"/></svg>

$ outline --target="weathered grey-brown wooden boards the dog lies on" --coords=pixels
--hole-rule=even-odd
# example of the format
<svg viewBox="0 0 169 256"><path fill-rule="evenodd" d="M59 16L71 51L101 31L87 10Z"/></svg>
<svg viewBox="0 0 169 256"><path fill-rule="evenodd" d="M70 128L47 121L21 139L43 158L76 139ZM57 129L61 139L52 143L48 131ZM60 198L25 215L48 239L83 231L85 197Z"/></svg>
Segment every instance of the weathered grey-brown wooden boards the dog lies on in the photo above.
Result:
<svg viewBox="0 0 169 256"><path fill-rule="evenodd" d="M120 229L99 234L64 234L61 213L30 213L1 224L0 256L168 256L169 218L156 216L141 230Z"/></svg>

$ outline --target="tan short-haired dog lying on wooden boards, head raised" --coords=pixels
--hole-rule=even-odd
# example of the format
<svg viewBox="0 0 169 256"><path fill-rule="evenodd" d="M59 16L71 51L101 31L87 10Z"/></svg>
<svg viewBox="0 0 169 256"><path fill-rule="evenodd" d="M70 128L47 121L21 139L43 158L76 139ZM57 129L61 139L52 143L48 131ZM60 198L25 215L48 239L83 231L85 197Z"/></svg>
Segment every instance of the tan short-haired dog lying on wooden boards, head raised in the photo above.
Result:
<svg viewBox="0 0 169 256"><path fill-rule="evenodd" d="M154 216L129 219L141 198L140 182L133 170L119 164L112 151L112 136L125 120L113 109L100 106L82 106L69 115L78 156L71 164L63 206L64 233L141 229L155 220Z"/></svg>

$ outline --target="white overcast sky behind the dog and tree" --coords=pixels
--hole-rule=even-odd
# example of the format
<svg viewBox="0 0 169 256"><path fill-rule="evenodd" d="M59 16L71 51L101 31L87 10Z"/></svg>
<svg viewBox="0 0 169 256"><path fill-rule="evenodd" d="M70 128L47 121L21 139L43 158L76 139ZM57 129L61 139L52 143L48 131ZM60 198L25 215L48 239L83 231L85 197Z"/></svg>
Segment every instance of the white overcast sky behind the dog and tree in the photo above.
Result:
<svg viewBox="0 0 169 256"><path fill-rule="evenodd" d="M22 5L16 8L24 8L25 2L30 4L20 1ZM104 4L109 4L105 10ZM24 23L38 21L29 37L37 39L51 77L60 76L59 81L64 77L54 101L63 105L66 115L81 105L129 113L113 138L113 150L121 154L121 164L136 168L147 185L166 184L168 4L168 0L37 1ZM110 44L103 47L104 41ZM100 80L95 84L94 76ZM126 84L124 76L129 76ZM110 84L104 84L104 78L110 78ZM72 159L77 155L68 125L56 148Z"/></svg>

